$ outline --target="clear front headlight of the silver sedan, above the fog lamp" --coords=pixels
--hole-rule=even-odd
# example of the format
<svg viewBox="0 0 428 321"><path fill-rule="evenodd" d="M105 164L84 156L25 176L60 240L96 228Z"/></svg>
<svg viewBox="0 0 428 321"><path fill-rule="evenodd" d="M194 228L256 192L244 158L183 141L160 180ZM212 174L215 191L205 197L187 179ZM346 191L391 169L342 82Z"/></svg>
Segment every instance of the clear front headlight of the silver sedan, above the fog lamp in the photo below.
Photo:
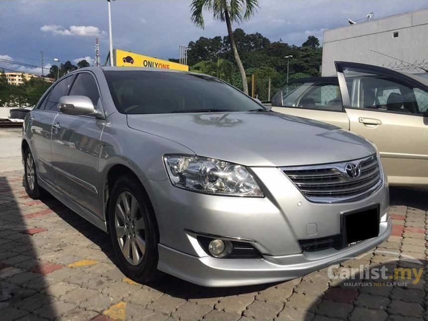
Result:
<svg viewBox="0 0 428 321"><path fill-rule="evenodd" d="M164 162L176 187L215 195L264 196L242 165L193 155L165 155Z"/></svg>

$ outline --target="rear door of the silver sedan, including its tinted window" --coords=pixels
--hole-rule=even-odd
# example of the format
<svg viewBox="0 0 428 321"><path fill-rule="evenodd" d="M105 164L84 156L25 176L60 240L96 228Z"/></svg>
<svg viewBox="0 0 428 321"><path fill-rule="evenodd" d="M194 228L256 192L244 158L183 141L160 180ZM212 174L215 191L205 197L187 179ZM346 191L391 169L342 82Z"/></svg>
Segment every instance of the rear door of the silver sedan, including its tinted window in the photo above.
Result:
<svg viewBox="0 0 428 321"><path fill-rule="evenodd" d="M73 76L61 79L39 105L31 110L28 125L31 135L31 152L36 163L37 174L45 181L53 183L51 135L52 124L58 115L58 102L67 95Z"/></svg>

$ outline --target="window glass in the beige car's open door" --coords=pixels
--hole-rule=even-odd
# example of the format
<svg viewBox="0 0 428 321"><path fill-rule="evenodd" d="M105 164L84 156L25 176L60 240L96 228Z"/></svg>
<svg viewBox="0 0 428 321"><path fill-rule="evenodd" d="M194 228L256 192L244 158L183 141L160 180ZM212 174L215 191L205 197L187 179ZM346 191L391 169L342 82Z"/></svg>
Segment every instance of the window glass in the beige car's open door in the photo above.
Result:
<svg viewBox="0 0 428 321"><path fill-rule="evenodd" d="M377 111L422 115L428 93L400 78L369 71L343 70L351 106Z"/></svg>

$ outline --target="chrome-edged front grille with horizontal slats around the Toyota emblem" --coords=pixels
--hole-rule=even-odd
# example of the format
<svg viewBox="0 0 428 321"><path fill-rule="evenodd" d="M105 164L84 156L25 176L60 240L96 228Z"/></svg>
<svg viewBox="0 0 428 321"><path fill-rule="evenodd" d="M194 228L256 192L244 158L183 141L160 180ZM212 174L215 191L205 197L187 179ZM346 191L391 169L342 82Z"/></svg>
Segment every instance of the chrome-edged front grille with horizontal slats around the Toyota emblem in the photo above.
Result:
<svg viewBox="0 0 428 321"><path fill-rule="evenodd" d="M346 166L354 167L359 174L351 177ZM372 193L382 182L376 155L349 162L325 165L283 167L283 172L314 202L343 202Z"/></svg>

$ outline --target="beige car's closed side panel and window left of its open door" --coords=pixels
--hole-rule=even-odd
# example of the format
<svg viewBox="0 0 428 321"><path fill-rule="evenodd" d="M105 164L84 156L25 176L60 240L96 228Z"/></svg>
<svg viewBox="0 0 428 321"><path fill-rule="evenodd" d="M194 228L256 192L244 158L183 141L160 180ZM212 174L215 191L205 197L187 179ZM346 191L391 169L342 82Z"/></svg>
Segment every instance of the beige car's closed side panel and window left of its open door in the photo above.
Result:
<svg viewBox="0 0 428 321"><path fill-rule="evenodd" d="M294 82L285 86L272 98L272 110L348 130L349 120L342 107L337 79L327 79Z"/></svg>

